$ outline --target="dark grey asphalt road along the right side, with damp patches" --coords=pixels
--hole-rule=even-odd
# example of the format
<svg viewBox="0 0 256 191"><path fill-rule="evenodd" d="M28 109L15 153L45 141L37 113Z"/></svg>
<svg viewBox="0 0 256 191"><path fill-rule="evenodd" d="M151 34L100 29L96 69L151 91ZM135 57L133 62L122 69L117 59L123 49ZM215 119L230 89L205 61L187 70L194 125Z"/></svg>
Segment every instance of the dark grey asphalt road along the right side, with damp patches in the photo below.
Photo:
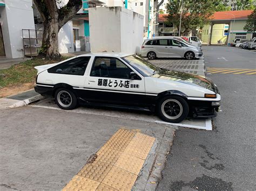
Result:
<svg viewBox="0 0 256 191"><path fill-rule="evenodd" d="M255 69L256 53L205 46L208 67ZM180 128L157 190L255 190L256 75L207 75L219 87L214 130Z"/></svg>

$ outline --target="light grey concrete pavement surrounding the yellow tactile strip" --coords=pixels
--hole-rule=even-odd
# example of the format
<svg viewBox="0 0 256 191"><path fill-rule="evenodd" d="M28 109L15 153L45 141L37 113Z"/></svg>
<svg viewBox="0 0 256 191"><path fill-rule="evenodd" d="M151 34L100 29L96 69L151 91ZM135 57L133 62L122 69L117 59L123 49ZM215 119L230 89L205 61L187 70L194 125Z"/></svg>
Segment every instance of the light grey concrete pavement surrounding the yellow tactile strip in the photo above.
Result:
<svg viewBox="0 0 256 191"><path fill-rule="evenodd" d="M174 133L164 124L33 107L0 109L0 121L0 160L5 161L0 163L1 190L62 189L120 128L139 129L156 138L153 157L143 169L156 175L153 162L162 156L157 163L164 164ZM140 177L145 187L149 177ZM139 182L135 186L141 189Z"/></svg>

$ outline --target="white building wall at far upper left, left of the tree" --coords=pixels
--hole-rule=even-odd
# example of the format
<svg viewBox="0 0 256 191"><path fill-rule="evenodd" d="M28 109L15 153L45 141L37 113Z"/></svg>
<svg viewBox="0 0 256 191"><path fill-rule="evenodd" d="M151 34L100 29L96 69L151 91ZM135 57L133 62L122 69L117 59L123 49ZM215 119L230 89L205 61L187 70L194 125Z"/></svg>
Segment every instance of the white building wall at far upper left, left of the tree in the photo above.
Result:
<svg viewBox="0 0 256 191"><path fill-rule="evenodd" d="M1 18L5 55L8 58L22 58L22 29L35 29L32 0L8 0L5 1L5 8L1 9L5 9L3 12L6 14Z"/></svg>

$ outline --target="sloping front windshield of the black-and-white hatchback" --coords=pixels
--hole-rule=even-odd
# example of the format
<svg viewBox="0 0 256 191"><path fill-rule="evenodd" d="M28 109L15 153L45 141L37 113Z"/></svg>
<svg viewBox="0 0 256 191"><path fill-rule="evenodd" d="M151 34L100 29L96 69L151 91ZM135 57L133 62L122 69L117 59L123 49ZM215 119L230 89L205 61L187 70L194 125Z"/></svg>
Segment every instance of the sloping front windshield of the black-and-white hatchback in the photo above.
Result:
<svg viewBox="0 0 256 191"><path fill-rule="evenodd" d="M126 56L122 59L128 62L143 76L154 75L158 70L160 70L158 67L152 65L150 62L147 62L146 60L137 55Z"/></svg>

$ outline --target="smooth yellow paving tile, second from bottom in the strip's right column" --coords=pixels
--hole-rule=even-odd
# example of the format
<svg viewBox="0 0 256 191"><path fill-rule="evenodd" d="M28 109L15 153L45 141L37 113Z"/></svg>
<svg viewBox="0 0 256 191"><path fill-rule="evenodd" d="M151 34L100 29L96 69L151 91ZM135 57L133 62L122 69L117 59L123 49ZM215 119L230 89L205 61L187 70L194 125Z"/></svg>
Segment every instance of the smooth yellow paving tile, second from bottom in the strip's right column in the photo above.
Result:
<svg viewBox="0 0 256 191"><path fill-rule="evenodd" d="M125 171L138 175L140 169L144 164L144 161L145 160L143 159L139 159L137 157L133 157L129 154L123 153L120 155L119 159L117 160L116 164L114 164L114 166L117 166L119 168L124 169Z"/></svg>

